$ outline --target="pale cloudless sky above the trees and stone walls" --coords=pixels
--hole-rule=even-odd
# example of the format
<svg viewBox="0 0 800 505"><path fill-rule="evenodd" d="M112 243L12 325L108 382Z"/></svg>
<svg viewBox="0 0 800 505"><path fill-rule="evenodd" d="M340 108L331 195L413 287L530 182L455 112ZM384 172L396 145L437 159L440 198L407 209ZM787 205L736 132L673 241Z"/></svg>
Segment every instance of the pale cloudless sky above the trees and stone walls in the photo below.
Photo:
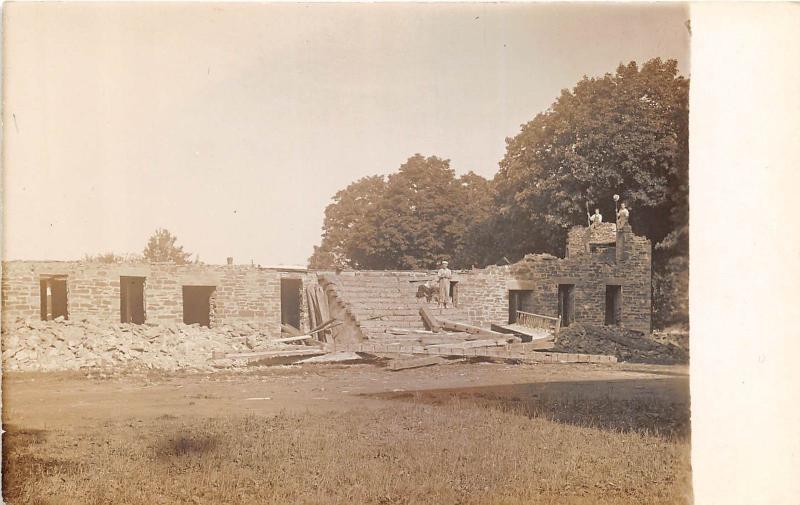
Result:
<svg viewBox="0 0 800 505"><path fill-rule="evenodd" d="M6 259L305 265L350 182L497 171L583 75L675 58L682 5L6 4Z"/></svg>

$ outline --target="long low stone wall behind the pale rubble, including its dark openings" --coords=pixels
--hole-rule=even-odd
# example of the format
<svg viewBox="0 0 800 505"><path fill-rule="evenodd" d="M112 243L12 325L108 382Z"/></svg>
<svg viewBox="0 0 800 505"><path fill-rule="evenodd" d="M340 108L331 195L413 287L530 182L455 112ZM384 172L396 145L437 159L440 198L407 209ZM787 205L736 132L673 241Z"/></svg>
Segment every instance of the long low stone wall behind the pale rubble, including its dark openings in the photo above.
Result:
<svg viewBox="0 0 800 505"><path fill-rule="evenodd" d="M279 335L281 280L287 278L299 279L300 289L308 282L305 271L249 265L9 261L3 263L3 320L61 316L109 324L134 322L135 318L124 320L130 310L143 313L141 322L203 326L253 322ZM139 281L129 283L131 279ZM316 282L313 276L312 282ZM300 291L296 295L300 326L307 326L303 298ZM204 318L207 321L199 320Z"/></svg>

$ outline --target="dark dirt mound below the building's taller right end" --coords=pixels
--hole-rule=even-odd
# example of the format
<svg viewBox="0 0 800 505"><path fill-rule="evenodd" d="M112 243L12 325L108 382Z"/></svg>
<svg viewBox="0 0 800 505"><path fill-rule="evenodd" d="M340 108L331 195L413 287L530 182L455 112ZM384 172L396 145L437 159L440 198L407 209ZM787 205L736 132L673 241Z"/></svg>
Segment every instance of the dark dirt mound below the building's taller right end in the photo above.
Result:
<svg viewBox="0 0 800 505"><path fill-rule="evenodd" d="M641 332L616 326L573 323L559 332L553 351L609 354L631 363L672 365L689 362L689 353L676 345L657 342Z"/></svg>

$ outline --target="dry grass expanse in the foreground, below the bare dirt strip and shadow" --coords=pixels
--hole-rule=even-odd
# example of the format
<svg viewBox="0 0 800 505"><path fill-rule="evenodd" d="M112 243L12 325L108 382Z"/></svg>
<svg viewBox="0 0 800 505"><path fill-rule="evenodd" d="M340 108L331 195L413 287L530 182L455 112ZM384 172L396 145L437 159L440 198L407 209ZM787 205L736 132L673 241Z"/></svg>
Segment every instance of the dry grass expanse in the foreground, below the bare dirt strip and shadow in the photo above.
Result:
<svg viewBox="0 0 800 505"><path fill-rule="evenodd" d="M685 440L467 401L328 415L133 420L85 433L11 430L4 452L11 504L690 501Z"/></svg>

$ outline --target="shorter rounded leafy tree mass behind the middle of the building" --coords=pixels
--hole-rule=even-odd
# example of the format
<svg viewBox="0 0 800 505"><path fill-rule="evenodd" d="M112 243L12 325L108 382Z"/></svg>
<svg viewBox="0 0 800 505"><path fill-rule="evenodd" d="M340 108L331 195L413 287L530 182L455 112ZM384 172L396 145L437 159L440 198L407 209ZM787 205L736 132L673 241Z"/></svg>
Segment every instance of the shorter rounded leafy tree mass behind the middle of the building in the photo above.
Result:
<svg viewBox="0 0 800 505"><path fill-rule="evenodd" d="M416 154L388 178L363 178L334 196L309 263L416 269L448 259L471 266L479 253L470 233L487 218L489 195L483 177L457 178L449 160Z"/></svg>

